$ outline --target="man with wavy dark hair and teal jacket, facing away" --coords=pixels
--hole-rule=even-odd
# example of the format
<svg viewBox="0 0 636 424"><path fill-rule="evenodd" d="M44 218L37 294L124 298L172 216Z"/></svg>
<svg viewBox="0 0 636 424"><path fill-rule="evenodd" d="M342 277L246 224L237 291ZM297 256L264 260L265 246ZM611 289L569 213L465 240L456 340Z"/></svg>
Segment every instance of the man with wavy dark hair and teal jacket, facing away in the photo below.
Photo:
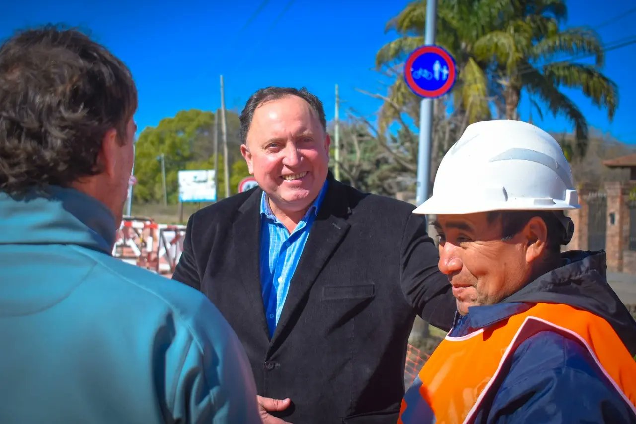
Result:
<svg viewBox="0 0 636 424"><path fill-rule="evenodd" d="M0 47L0 422L259 423L204 295L109 255L133 162L127 67L78 30Z"/></svg>

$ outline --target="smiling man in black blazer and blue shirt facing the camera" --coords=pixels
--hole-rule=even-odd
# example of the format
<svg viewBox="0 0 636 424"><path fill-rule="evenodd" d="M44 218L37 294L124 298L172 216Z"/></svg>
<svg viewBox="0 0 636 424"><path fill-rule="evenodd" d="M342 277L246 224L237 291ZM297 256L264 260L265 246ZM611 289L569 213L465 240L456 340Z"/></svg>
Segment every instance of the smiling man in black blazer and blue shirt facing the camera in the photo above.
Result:
<svg viewBox="0 0 636 424"><path fill-rule="evenodd" d="M455 312L425 218L333 178L305 89L261 89L240 121L259 187L191 216L174 279L239 336L266 423L395 423L415 315Z"/></svg>

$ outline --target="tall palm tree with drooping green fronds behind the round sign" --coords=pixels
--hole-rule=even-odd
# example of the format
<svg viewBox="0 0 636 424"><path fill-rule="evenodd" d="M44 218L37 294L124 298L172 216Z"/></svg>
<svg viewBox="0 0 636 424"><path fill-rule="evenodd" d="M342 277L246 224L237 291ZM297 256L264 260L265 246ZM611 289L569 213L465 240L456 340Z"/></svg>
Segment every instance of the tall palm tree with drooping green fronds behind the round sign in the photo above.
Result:
<svg viewBox="0 0 636 424"><path fill-rule="evenodd" d="M491 106L508 119L518 119L518 106L525 92L544 102L553 114L563 114L574 124L576 148L587 147L588 124L583 113L561 88L579 88L611 119L618 103L616 84L601 72L604 51L590 29L560 29L567 17L564 0L445 0L438 8L437 43L455 56L459 78L453 89L453 104L467 114L469 123L488 119ZM401 37L385 44L377 53L378 67L395 66L424 44L425 7L409 4L388 29ZM563 56L574 56L562 58ZM592 55L595 63L577 63L577 57ZM417 102L399 77L389 90L397 105ZM384 105L381 123L394 119L395 105ZM539 110L540 112L540 110Z"/></svg>

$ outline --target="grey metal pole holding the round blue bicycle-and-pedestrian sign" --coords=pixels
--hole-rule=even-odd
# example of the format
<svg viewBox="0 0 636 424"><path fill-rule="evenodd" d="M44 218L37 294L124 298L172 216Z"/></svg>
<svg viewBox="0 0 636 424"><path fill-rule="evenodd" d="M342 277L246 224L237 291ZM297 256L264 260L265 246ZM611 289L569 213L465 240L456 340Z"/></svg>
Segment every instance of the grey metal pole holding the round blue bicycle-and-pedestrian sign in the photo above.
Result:
<svg viewBox="0 0 636 424"><path fill-rule="evenodd" d="M424 44L435 44L435 20L437 0L426 2L426 28ZM433 124L433 99L423 98L420 103L420 144L417 154L417 195L418 205L429 198L431 180L431 138Z"/></svg>

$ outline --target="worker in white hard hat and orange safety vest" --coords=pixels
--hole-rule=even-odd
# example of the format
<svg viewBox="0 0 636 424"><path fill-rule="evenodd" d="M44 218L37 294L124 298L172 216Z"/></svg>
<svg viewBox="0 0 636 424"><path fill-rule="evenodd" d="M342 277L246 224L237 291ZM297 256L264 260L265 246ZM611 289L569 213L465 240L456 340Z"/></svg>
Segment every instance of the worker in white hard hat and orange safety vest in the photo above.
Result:
<svg viewBox="0 0 636 424"><path fill-rule="evenodd" d="M636 422L636 324L605 253L569 251L579 208L556 141L519 121L466 129L431 199L455 323L406 392L400 423Z"/></svg>

